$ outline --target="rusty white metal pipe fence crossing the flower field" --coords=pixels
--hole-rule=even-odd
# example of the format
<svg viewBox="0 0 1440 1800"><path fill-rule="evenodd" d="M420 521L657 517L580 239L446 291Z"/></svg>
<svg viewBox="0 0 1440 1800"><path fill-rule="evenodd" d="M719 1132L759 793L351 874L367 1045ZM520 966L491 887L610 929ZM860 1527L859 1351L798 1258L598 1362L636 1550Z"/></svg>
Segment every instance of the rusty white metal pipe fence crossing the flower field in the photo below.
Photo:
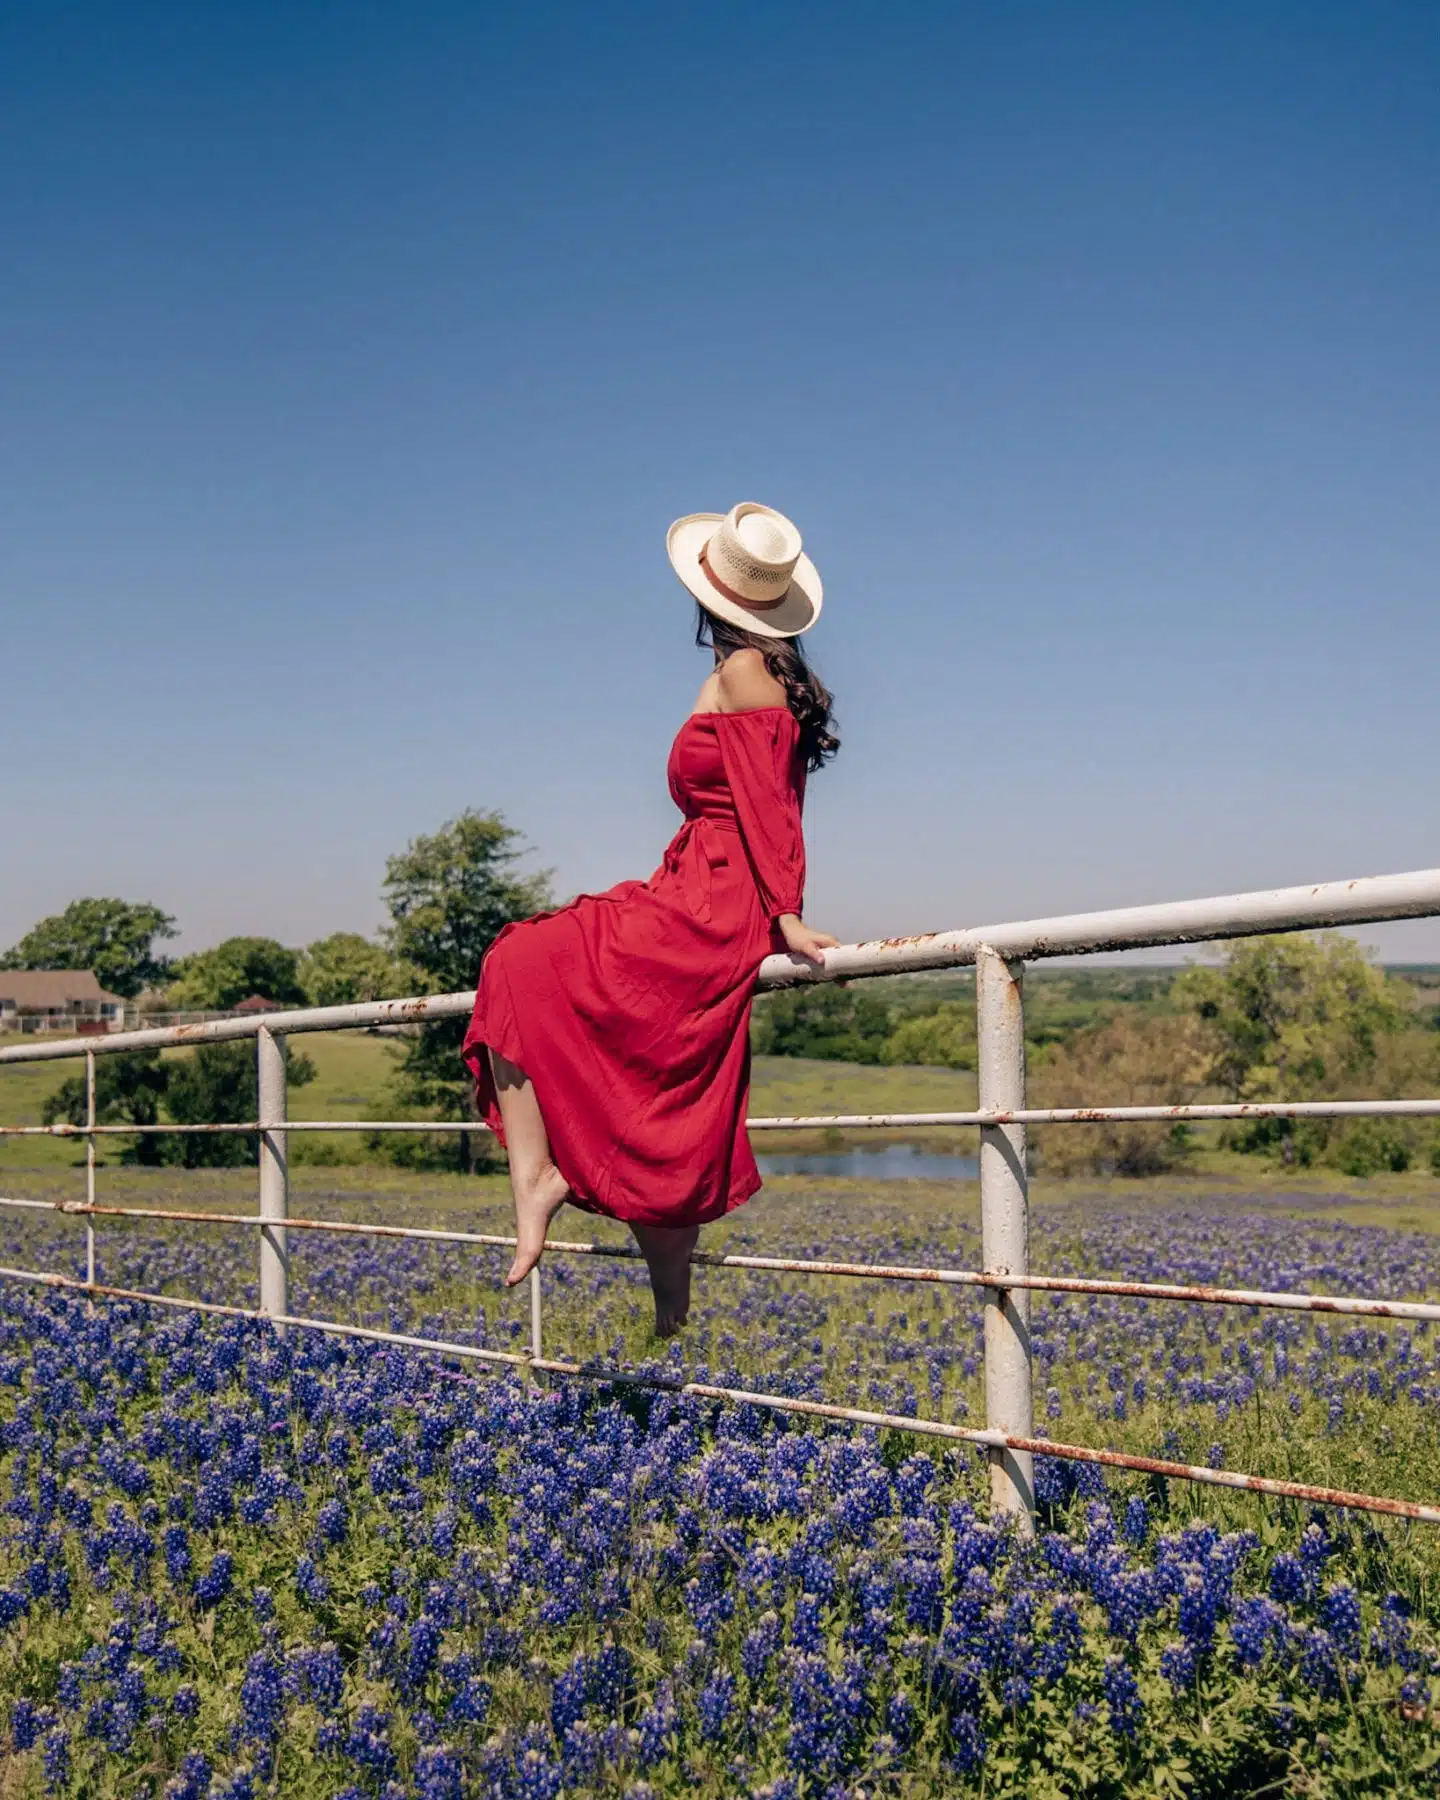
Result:
<svg viewBox="0 0 1440 1800"><path fill-rule="evenodd" d="M547 1357L542 1343L540 1271L531 1276L531 1339L526 1352L482 1350L448 1339L416 1337L403 1332L344 1325L337 1319L304 1318L290 1312L288 1233L322 1231L369 1237L418 1238L439 1244L511 1246L515 1238L481 1231L439 1231L412 1226L360 1224L346 1220L295 1219L288 1208L286 1143L297 1130L475 1130L473 1123L394 1121L394 1120L286 1120L284 1039L302 1031L344 1031L355 1028L423 1024L470 1013L473 994L441 994L400 1001L373 1001L358 1006L319 1006L302 1012L268 1013L248 1019L216 1019L203 1024L153 1028L115 1033L103 1039L40 1040L0 1048L0 1064L43 1062L83 1057L86 1067L86 1125L9 1125L0 1136L79 1136L86 1139L85 1201L34 1201L0 1197L11 1208L74 1213L86 1224L86 1278L83 1282L40 1269L0 1267L0 1278L68 1289L97 1298L140 1300L160 1307L182 1307L229 1318L268 1319L277 1330L288 1327L331 1332L342 1337L409 1345L475 1363L518 1366L558 1377L632 1382L666 1391L691 1393L715 1400L743 1402L781 1413L893 1427L923 1436L950 1438L983 1445L990 1462L990 1498L997 1514L1017 1516L1021 1528L1033 1521L1033 1458L1055 1456L1105 1467L1136 1469L1148 1474L1215 1487L1238 1487L1262 1494L1323 1505L1355 1507L1406 1519L1440 1525L1440 1503L1390 1499L1355 1494L1301 1481L1280 1481L1233 1469L1206 1469L1130 1456L1120 1451L1091 1449L1080 1444L1055 1444L1035 1436L1030 1294L1051 1292L1114 1294L1141 1300L1170 1300L1201 1305L1262 1307L1303 1312L1337 1312L1384 1319L1440 1321L1440 1300L1379 1300L1363 1294L1298 1294L1253 1289L1183 1287L1157 1282L1111 1282L1080 1276L1035 1274L1030 1269L1030 1204L1026 1177L1028 1125L1084 1125L1102 1120L1181 1121L1226 1118L1350 1118L1357 1114L1440 1116L1440 1098L1429 1100L1334 1100L1296 1103L1229 1105L1154 1105L1154 1107L1026 1107L1024 1103L1024 1001L1022 968L1026 961L1075 956L1096 950L1129 950L1150 945L1201 943L1244 938L1262 932L1305 931L1321 925L1361 925L1377 920L1424 918L1440 914L1440 869L1408 875L1377 875L1352 882L1323 882L1312 887L1282 887L1267 893L1224 895L1210 900L1183 900L1166 905L1125 907L1109 913L1076 913L1062 918L1021 920L967 931L929 932L918 938L884 938L871 943L841 945L826 952L824 968L790 956L770 956L760 968L760 986L790 986L801 981L871 977L922 968L976 968L976 1021L979 1039L979 1105L968 1112L868 1112L835 1116L752 1118L751 1130L794 1130L839 1127L846 1130L886 1127L976 1127L979 1129L981 1188L981 1260L983 1269L902 1267L864 1262L823 1262L815 1258L743 1256L697 1251L693 1262L704 1267L765 1269L801 1276L848 1276L880 1282L936 1282L985 1291L985 1427L956 1426L938 1418L875 1413L855 1406L832 1406L776 1393L689 1382L680 1377L650 1375L594 1363ZM239 1125L97 1125L95 1057L131 1049L180 1048L193 1044L256 1039L259 1075L259 1118ZM153 1132L248 1132L259 1136L259 1208L254 1215L223 1211L104 1206L95 1201L95 1143L104 1136ZM223 1307L112 1287L95 1278L95 1219L180 1220L194 1226L229 1226L259 1235L259 1309ZM610 1244L551 1240L551 1255L637 1258L639 1251Z"/></svg>

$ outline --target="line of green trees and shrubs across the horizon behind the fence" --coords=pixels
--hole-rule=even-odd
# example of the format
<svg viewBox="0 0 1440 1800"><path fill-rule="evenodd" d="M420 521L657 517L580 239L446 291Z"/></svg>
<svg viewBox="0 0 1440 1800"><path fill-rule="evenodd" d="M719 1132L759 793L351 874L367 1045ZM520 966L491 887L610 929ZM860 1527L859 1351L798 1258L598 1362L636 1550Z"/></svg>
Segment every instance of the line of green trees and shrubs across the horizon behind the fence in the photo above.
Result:
<svg viewBox="0 0 1440 1800"><path fill-rule="evenodd" d="M94 968L115 994L164 1010L229 1010L252 994L283 1006L333 1006L400 994L470 988L484 950L515 918L553 904L551 871L526 873L522 835L499 812L464 812L412 839L385 864L385 927L374 938L331 932L304 949L227 938L167 958L175 920L153 902L76 900L34 925L0 965ZM1426 974L1424 970L1418 974ZM1431 995L1433 1001L1433 995ZM1440 1084L1440 1010L1336 932L1231 945L1213 967L1040 968L1026 985L1030 1093L1037 1105L1141 1105L1201 1098L1321 1100L1433 1094ZM398 1048L389 1105L401 1118L473 1116L461 1067L463 1019L436 1021ZM974 976L803 985L760 995L752 1048L770 1057L974 1069ZM290 1058L290 1082L313 1064ZM216 1044L97 1060L101 1123L243 1123L256 1116L254 1053ZM83 1123L83 1084L50 1098L47 1118ZM1037 1132L1053 1172L1147 1175L1181 1166L1215 1134L1175 1125L1073 1125ZM1348 1174L1429 1163L1440 1129L1427 1120L1251 1120L1219 1141L1287 1166ZM398 1163L477 1166L479 1132L376 1134ZM164 1134L137 1141L137 1161L203 1166L252 1159L245 1134Z"/></svg>

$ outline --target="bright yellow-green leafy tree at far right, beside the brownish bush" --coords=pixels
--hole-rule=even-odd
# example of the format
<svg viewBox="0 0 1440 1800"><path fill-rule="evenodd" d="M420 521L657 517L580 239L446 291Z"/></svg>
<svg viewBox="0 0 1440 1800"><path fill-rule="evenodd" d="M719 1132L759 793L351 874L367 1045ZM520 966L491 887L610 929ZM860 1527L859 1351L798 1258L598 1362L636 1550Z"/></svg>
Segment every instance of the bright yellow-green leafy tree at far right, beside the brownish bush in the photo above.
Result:
<svg viewBox="0 0 1440 1800"><path fill-rule="evenodd" d="M1206 1022L1208 1078L1233 1100L1343 1098L1373 1078L1382 1039L1413 1022L1406 988L1336 931L1235 943L1219 968L1188 968L1174 994ZM1278 1148L1289 1163L1309 1161L1332 1136L1325 1121L1296 1127L1256 1120L1231 1141Z"/></svg>

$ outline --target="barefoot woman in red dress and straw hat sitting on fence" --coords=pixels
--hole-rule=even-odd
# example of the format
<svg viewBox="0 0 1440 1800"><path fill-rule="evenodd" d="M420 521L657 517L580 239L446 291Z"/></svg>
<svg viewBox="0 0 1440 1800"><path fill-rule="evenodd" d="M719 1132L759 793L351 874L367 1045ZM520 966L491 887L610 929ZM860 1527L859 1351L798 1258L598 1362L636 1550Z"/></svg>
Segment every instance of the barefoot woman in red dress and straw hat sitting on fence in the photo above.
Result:
<svg viewBox="0 0 1440 1800"><path fill-rule="evenodd" d="M684 814L646 882L506 925L481 965L464 1060L509 1152L515 1262L535 1267L569 1201L623 1219L655 1330L689 1307L698 1228L760 1186L745 1130L751 994L772 950L837 940L801 918L805 778L839 749L797 643L823 590L799 531L767 506L695 513L670 560L715 670L670 751Z"/></svg>

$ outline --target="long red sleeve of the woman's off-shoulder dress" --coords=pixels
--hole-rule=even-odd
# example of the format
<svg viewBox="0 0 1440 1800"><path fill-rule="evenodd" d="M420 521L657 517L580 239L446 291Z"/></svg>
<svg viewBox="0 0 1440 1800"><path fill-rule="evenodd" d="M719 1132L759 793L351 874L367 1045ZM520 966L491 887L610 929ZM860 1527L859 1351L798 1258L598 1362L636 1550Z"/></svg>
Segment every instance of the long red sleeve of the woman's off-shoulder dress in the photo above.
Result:
<svg viewBox="0 0 1440 1800"><path fill-rule="evenodd" d="M799 913L805 904L799 725L785 707L713 716L765 916Z"/></svg>

